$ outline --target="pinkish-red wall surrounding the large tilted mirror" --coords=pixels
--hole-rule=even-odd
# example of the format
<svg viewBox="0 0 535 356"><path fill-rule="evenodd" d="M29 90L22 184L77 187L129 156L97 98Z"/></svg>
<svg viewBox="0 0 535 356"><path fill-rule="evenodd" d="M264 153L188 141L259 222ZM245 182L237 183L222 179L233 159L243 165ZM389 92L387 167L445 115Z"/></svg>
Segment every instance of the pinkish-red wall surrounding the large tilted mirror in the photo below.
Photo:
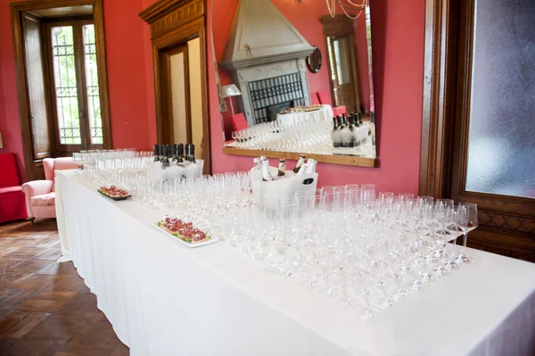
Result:
<svg viewBox="0 0 535 356"><path fill-rule="evenodd" d="M372 2L379 168L320 163L317 167L320 186L374 183L378 190L417 193L424 76L424 7L424 2L419 0ZM217 29L214 36L220 36L222 31L227 29ZM249 170L250 157L221 152L223 138L219 133L221 126L213 61L209 61L209 79L213 171ZM275 160L272 164L276 164ZM292 164L289 163L289 166L292 167Z"/></svg>

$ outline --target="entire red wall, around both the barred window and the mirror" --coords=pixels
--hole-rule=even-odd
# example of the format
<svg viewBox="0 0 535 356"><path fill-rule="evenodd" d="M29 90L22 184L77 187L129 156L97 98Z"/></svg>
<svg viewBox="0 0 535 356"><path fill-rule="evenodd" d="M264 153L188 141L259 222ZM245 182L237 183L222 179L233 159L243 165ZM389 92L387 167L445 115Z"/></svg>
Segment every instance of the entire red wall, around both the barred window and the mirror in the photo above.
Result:
<svg viewBox="0 0 535 356"><path fill-rule="evenodd" d="M215 1L219 4L224 0ZM3 99L0 132L4 134L6 148L22 157L9 2L0 0L0 97ZM137 15L152 3L151 0L104 2L112 140L117 147L147 149L156 141L150 30ZM211 0L208 3L210 11ZM302 2L300 6L306 4ZM228 32L232 13L226 29L217 29L216 34ZM379 168L320 163L319 184L374 182L378 190L416 193L424 73L424 2L374 0L372 28ZM209 23L209 39L210 30ZM249 170L250 157L222 153L221 117L210 45L208 52L213 171Z"/></svg>

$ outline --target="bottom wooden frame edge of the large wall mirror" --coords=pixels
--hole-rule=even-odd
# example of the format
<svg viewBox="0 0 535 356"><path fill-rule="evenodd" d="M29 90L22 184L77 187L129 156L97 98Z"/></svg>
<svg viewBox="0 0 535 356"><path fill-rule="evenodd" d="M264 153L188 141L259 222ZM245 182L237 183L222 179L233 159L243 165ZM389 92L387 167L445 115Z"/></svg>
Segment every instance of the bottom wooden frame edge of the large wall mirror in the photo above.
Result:
<svg viewBox="0 0 535 356"><path fill-rule="evenodd" d="M300 153L283 152L283 151L264 151L264 150L249 150L244 148L237 148L226 146L223 153L234 154L240 156L259 157L265 155L268 158L284 158L286 160L299 160ZM307 153L308 158L313 158L321 163L333 163L344 166L358 166L375 168L378 167L378 160L376 158L354 157L354 156L336 156L332 154L317 154Z"/></svg>

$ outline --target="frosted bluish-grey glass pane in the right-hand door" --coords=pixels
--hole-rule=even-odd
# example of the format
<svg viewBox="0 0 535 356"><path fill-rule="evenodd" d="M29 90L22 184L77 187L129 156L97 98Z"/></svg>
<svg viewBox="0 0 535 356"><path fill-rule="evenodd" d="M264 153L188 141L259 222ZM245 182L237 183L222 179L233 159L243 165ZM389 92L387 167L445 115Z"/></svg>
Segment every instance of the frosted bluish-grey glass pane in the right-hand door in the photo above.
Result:
<svg viewBox="0 0 535 356"><path fill-rule="evenodd" d="M467 191L535 197L535 6L476 2Z"/></svg>

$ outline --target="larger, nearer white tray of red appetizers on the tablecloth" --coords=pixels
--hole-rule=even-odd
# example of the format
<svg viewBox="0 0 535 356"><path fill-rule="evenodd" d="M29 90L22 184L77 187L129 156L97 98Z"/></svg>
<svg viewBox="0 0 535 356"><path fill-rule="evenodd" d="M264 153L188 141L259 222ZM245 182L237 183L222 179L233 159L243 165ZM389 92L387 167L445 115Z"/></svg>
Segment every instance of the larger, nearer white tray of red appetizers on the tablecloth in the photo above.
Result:
<svg viewBox="0 0 535 356"><path fill-rule="evenodd" d="M206 244L213 244L218 241L217 237L202 231L193 226L193 222L186 222L174 217L164 217L154 224L161 232L168 236L173 236L181 244L188 247L199 247Z"/></svg>

